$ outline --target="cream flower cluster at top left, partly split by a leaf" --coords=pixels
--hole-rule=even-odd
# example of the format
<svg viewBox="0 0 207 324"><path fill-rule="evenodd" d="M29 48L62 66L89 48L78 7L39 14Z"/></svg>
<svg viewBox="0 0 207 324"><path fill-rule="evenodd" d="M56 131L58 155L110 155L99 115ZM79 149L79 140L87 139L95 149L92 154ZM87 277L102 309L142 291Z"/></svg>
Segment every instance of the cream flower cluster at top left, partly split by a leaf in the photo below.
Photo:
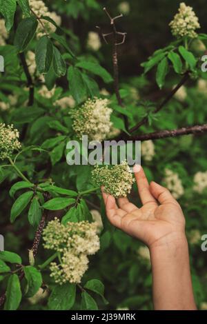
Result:
<svg viewBox="0 0 207 324"><path fill-rule="evenodd" d="M30 8L37 15L37 17L46 16L50 17L50 19L54 20L57 26L61 25L61 17L59 17L55 12L50 12L46 4L41 0L29 0ZM50 34L55 32L56 27L50 23L50 21L46 21L45 19L41 19L41 23L39 21L37 28L37 38L42 37L46 33Z"/></svg>

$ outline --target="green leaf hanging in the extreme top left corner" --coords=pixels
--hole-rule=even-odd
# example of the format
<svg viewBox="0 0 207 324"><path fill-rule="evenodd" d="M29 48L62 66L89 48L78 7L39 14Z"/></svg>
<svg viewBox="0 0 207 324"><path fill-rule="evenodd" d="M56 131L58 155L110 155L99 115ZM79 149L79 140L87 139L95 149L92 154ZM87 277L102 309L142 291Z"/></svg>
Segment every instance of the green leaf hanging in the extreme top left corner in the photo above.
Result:
<svg viewBox="0 0 207 324"><path fill-rule="evenodd" d="M6 29L8 32L13 26L14 23L14 13L17 8L16 0L0 0L0 12L3 14L3 17L6 19Z"/></svg>

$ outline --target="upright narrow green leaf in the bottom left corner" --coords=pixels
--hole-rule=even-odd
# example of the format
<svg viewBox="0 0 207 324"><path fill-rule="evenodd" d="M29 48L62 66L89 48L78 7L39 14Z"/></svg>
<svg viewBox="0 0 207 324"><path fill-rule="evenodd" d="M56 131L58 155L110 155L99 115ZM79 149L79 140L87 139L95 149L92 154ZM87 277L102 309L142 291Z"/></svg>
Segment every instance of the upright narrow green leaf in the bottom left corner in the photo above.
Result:
<svg viewBox="0 0 207 324"><path fill-rule="evenodd" d="M17 274L12 274L6 289L6 302L4 310L17 310L21 302L21 286Z"/></svg>

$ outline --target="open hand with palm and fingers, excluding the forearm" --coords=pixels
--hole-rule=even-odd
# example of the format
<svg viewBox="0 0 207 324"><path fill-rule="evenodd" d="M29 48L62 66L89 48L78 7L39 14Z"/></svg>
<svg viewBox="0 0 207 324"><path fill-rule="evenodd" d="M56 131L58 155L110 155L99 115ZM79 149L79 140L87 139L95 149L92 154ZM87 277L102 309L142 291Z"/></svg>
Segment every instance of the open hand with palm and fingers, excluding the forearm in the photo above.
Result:
<svg viewBox="0 0 207 324"><path fill-rule="evenodd" d="M116 201L102 188L110 223L135 236L150 248L184 239L184 214L172 194L158 183L151 182L149 185L142 168L139 172L135 169L135 178L143 204L140 208L130 203L127 198L119 198Z"/></svg>

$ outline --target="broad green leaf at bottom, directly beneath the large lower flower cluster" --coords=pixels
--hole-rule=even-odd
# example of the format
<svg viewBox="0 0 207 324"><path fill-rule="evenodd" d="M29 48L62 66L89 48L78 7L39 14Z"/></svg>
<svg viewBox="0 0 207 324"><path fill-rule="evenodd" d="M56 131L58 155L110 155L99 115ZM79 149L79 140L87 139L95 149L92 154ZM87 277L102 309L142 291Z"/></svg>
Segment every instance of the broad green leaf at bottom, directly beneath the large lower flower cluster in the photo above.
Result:
<svg viewBox="0 0 207 324"><path fill-rule="evenodd" d="M56 285L48 301L50 310L70 310L75 303L76 285L65 283Z"/></svg>

